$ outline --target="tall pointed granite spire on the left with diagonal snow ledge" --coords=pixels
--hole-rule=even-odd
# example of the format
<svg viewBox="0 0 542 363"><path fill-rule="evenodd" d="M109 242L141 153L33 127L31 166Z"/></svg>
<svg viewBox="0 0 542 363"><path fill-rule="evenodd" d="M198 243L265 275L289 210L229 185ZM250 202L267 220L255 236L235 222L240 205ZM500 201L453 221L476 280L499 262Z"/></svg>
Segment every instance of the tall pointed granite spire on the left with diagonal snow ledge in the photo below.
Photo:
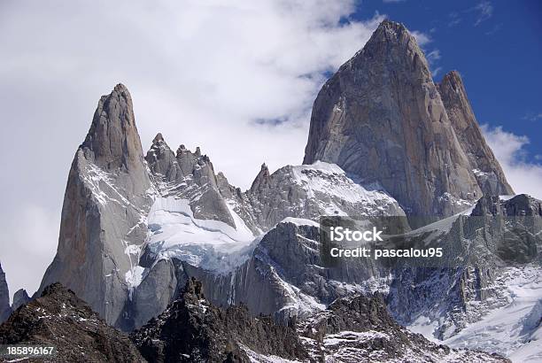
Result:
<svg viewBox="0 0 542 363"><path fill-rule="evenodd" d="M146 235L151 181L132 107L119 84L100 98L68 175L58 251L40 290L61 282L110 324L121 319Z"/></svg>

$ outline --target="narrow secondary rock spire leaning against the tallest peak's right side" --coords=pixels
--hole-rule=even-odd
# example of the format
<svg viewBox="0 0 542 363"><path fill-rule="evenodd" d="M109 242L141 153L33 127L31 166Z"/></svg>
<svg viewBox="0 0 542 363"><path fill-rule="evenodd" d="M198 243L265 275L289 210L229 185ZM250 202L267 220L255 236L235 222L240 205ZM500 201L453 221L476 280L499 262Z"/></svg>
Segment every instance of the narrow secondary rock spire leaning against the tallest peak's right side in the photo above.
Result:
<svg viewBox="0 0 542 363"><path fill-rule="evenodd" d="M468 102L467 91L460 73L456 71L447 73L443 80L437 84L437 88L445 105L448 119L452 122L455 135L461 143L461 148L467 154L470 166L484 195L514 194L514 190L508 184L492 149L485 143L484 135L482 135Z"/></svg>

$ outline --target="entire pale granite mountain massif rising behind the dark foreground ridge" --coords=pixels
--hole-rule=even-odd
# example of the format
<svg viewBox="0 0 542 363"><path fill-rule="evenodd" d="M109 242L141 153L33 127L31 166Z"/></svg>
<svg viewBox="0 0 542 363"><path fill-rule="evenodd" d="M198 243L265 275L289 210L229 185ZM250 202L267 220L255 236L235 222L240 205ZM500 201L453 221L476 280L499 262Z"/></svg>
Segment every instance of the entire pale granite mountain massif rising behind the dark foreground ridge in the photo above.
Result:
<svg viewBox="0 0 542 363"><path fill-rule="evenodd" d="M76 151L58 252L34 298L61 282L107 324L124 331L144 326L138 334L161 336L163 327L176 324L165 323L171 314L194 313L182 298L192 277L203 282L206 298L205 305L195 304L197 311L209 308L219 325L232 316L248 324L249 313L264 313L283 326L297 320L298 329L301 321L329 314L337 299L379 292L395 321L430 339L507 356L529 348L521 359L537 359L541 202L513 195L480 132L459 73L435 83L405 27L384 21L364 49L322 87L304 161L274 173L263 165L252 187L242 191L215 172L199 148L189 151L181 145L173 151L158 134L144 153L128 89L117 85L100 98ZM444 255L344 259L329 266L321 258L321 216L403 219L403 233L389 236L386 243L440 247ZM3 281L0 274L0 313L7 315L12 307ZM19 292L17 305L26 300ZM355 310L356 304L348 306ZM229 305L245 308L221 310ZM518 305L521 309L514 310ZM514 321L492 325L493 314L510 311ZM200 315L194 316L206 316ZM271 324L252 323L258 331ZM191 328L203 329L205 340L207 325ZM329 349L363 346L369 330L325 328L319 336L348 329L353 329L350 336L329 337ZM409 341L418 339L403 333ZM328 349L325 338L299 334L313 357ZM260 360L270 354L242 337L228 354ZM168 357L160 347L169 344L169 337L161 345L138 339L149 354ZM201 339L190 344L203 344ZM220 351L225 342L213 346ZM382 359L402 359L399 348L393 348L402 345L394 342L386 345L384 351L390 352L383 352ZM440 348L423 342L413 343L416 359L425 349L433 357L427 359L438 360L435 349ZM277 349L292 358L298 357L295 347ZM376 348L371 347L369 352ZM363 354L356 359L367 359Z"/></svg>

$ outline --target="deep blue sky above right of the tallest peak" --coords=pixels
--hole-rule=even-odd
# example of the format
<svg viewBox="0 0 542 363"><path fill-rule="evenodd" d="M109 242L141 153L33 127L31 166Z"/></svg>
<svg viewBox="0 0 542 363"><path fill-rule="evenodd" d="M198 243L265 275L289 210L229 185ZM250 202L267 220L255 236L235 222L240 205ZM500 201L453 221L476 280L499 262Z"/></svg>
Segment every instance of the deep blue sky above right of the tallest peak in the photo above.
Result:
<svg viewBox="0 0 542 363"><path fill-rule="evenodd" d="M435 81L459 71L478 122L527 135L525 157L542 158L542 2L365 0L352 19L375 12L429 35Z"/></svg>

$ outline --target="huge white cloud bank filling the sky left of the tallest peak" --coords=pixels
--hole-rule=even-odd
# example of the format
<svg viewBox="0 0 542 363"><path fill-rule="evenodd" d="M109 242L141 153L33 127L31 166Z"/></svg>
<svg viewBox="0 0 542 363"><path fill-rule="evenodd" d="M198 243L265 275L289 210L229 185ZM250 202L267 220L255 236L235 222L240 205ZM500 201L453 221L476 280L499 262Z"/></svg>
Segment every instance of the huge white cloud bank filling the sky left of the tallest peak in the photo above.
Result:
<svg viewBox="0 0 542 363"><path fill-rule="evenodd" d="M98 97L126 84L143 149L157 132L172 148L199 145L246 188L264 161L302 161L323 74L383 19L349 19L354 10L354 0L4 2L0 162L10 176L0 180L0 228L10 233L0 259L11 290L34 290L50 263L66 175ZM40 243L38 261L29 251Z"/></svg>

